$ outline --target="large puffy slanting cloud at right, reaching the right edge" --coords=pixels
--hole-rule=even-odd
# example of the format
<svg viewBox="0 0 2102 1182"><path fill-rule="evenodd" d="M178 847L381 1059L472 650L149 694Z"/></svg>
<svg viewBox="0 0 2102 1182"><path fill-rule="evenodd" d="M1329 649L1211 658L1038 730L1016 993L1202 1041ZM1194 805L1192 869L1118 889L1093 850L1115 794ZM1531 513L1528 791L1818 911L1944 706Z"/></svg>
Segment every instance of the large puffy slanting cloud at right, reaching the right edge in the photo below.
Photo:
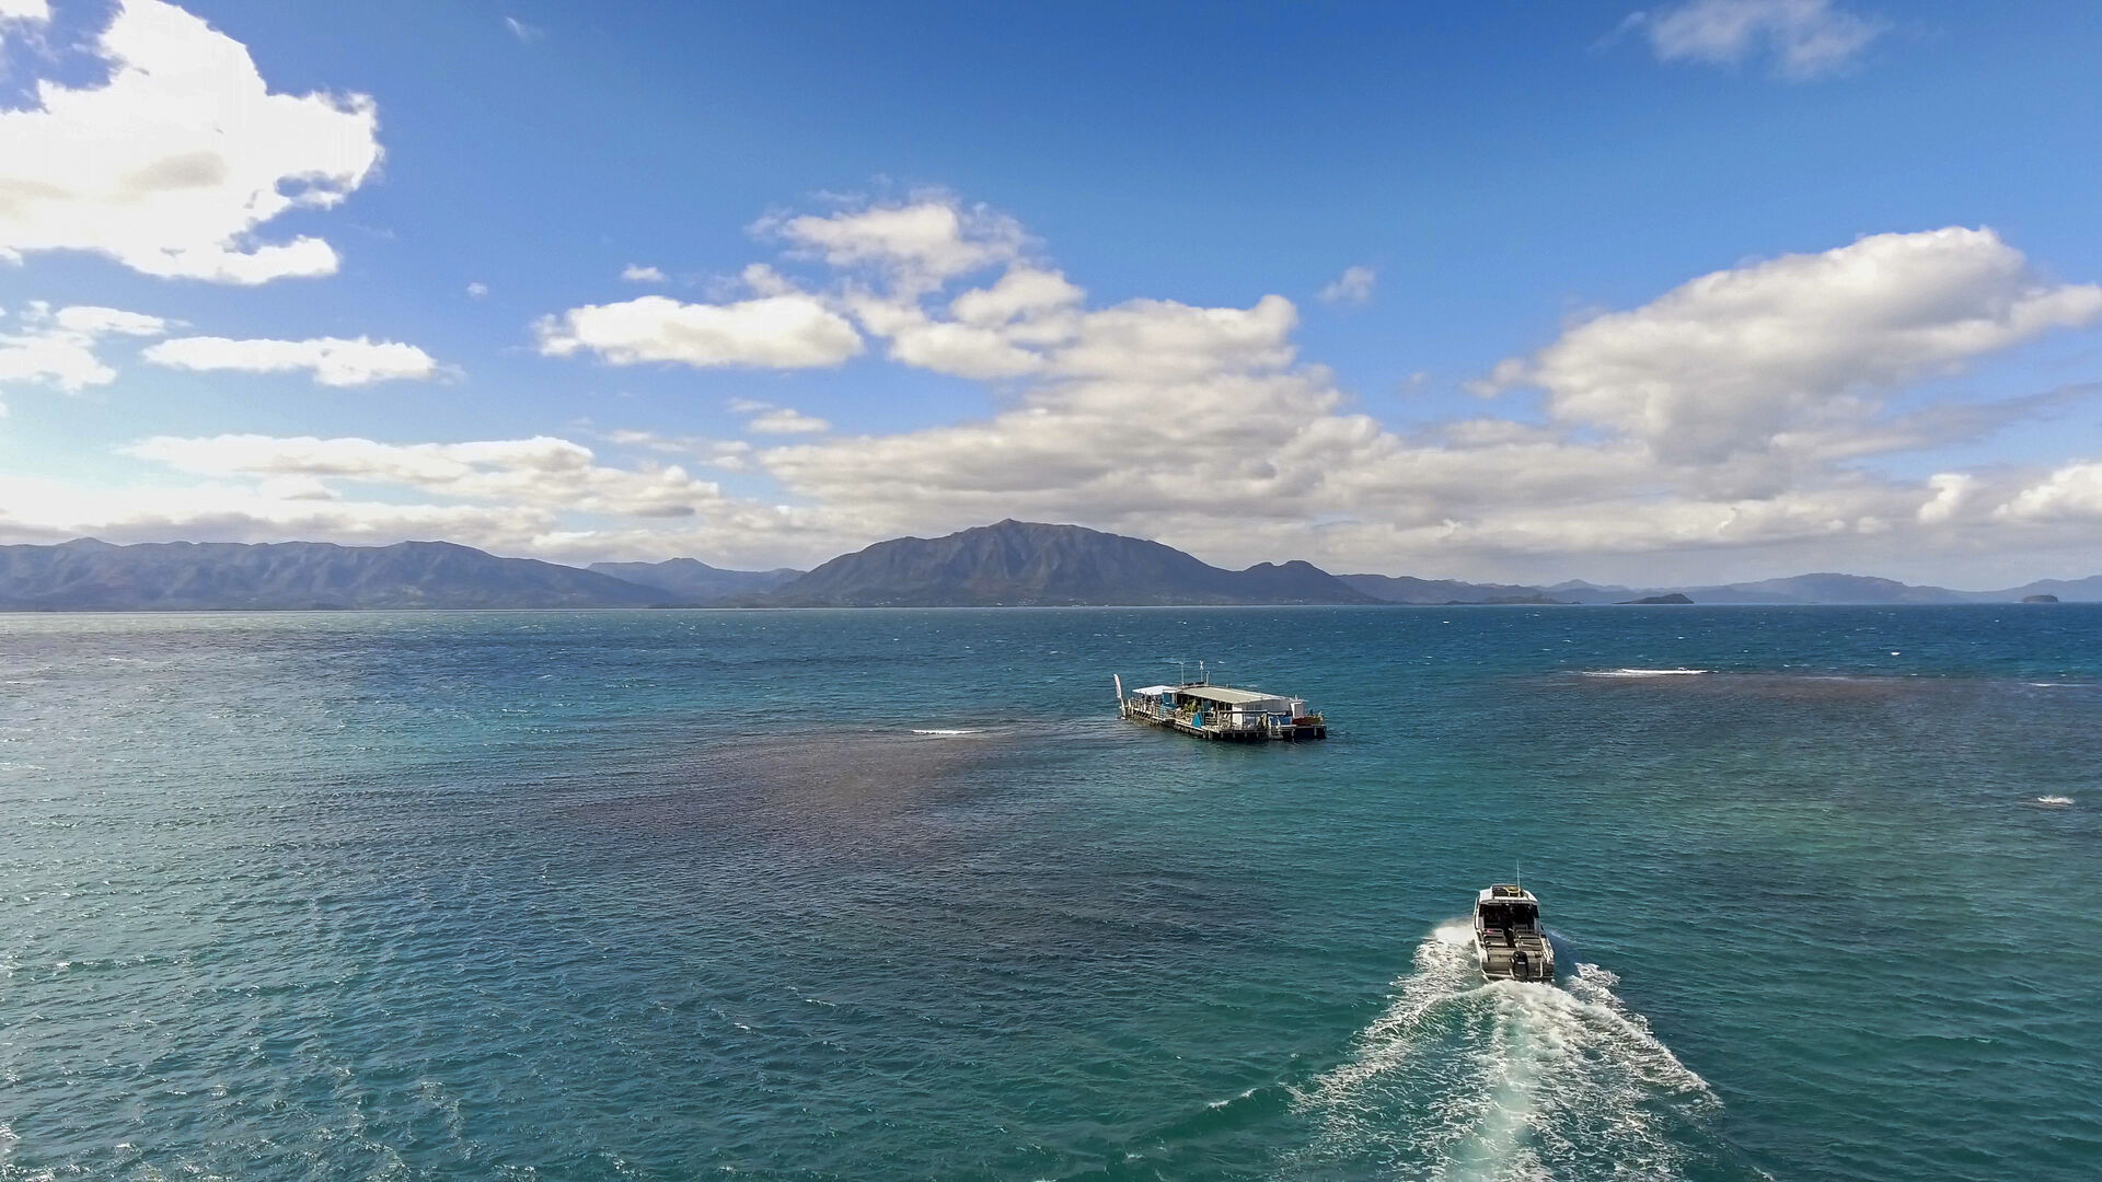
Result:
<svg viewBox="0 0 2102 1182"><path fill-rule="evenodd" d="M1492 385L1537 385L1566 423L1713 463L1791 431L1858 429L1896 385L2096 320L2102 286L2045 280L1991 229L1879 233L1598 315L1503 362Z"/></svg>

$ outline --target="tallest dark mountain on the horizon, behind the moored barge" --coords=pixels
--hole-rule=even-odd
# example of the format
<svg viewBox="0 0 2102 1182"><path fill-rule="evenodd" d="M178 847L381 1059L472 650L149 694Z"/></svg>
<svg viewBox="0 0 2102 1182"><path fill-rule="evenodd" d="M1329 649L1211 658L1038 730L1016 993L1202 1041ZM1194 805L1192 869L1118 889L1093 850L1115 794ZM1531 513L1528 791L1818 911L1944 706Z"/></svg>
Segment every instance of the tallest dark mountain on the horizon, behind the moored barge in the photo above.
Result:
<svg viewBox="0 0 2102 1182"><path fill-rule="evenodd" d="M1221 570L1141 538L1080 526L1001 522L944 538L877 543L755 602L784 608L967 608L1375 599L1305 562Z"/></svg>

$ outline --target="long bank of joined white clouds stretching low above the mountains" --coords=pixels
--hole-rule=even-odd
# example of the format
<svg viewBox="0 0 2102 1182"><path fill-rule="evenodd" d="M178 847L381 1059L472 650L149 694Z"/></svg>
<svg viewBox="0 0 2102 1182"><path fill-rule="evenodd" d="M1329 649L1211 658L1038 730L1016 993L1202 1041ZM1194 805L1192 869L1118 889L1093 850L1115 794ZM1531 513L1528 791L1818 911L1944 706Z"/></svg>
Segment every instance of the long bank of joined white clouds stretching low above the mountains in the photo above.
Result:
<svg viewBox="0 0 2102 1182"><path fill-rule="evenodd" d="M948 212L910 212L929 202ZM1909 389L2102 320L2102 292L2043 276L1986 229L1864 238L1690 280L1497 366L1490 387L1539 389L1543 414L1396 429L1299 355L1284 297L1095 303L1013 223L946 196L912 204L811 215L795 236L778 227L797 219L776 219L788 257L822 271L790 282L757 265L744 301L576 309L542 322L542 347L698 366L877 349L984 381L984 410L961 421L841 433L740 398L727 410L757 442L597 435L633 465L553 437L162 437L130 454L248 498L248 530L334 519L374 536L395 505L481 513L456 536L507 553L759 566L1015 515L1158 536L1221 564L1663 580L1713 578L1724 562L1774 574L1982 553L1999 536L2098 524L2079 465L1917 480L1864 463L2083 398L1921 404ZM792 315L753 313L769 303ZM809 347L809 326L828 349ZM755 492L725 494L671 456L738 471ZM351 505L362 517L326 515Z"/></svg>

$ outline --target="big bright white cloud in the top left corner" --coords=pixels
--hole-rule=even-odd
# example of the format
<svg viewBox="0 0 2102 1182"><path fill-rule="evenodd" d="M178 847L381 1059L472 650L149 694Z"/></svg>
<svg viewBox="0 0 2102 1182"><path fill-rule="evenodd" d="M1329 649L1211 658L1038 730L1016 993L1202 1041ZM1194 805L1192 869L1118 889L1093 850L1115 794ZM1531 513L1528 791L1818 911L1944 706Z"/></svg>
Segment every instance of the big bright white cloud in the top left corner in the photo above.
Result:
<svg viewBox="0 0 2102 1182"><path fill-rule="evenodd" d="M0 259L92 250L162 278L328 276L336 250L254 231L328 208L378 164L364 95L271 95L248 48L160 0L126 0L97 42L107 84L40 82L0 111Z"/></svg>

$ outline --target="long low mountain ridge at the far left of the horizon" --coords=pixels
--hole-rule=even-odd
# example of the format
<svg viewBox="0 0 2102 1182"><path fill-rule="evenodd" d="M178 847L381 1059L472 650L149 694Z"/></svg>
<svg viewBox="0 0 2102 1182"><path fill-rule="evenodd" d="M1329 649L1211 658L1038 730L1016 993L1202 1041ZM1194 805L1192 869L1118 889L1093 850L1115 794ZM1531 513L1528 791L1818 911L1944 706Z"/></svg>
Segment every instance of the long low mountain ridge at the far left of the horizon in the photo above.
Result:
<svg viewBox="0 0 2102 1182"><path fill-rule="evenodd" d="M679 602L605 574L452 543L0 547L0 610L647 608Z"/></svg>

